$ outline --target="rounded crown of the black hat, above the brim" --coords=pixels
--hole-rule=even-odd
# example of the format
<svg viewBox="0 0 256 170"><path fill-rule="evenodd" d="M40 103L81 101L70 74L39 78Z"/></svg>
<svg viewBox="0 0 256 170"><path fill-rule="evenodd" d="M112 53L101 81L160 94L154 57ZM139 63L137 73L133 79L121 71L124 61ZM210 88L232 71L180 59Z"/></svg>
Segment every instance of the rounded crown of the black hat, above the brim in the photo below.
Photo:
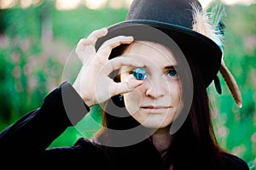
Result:
<svg viewBox="0 0 256 170"><path fill-rule="evenodd" d="M134 0L126 20L155 20L192 29L194 3L196 0Z"/></svg>

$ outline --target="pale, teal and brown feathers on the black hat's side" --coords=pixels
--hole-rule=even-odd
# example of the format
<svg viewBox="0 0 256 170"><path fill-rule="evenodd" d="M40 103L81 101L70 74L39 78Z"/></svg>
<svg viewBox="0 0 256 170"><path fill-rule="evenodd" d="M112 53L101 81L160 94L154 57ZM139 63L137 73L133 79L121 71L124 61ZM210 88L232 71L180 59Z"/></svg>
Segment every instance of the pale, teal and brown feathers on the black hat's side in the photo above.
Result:
<svg viewBox="0 0 256 170"><path fill-rule="evenodd" d="M201 10L197 5L195 5L195 3L191 3L191 6L193 8L193 30L211 38L218 44L219 48L224 51L223 42L225 26L221 19L224 16L224 8L220 3L218 3L217 8L212 8L212 13L207 14L206 10ZM212 23L210 23L210 19L212 19ZM240 89L237 85L236 79L225 65L223 57L224 53L222 55L219 72L222 77L224 77L224 81L230 90L230 94L232 94L233 99L236 101L236 105L241 108L242 101ZM216 79L214 80L218 81ZM220 84L218 83L219 82L215 82L215 87L217 88L218 93L221 94Z"/></svg>

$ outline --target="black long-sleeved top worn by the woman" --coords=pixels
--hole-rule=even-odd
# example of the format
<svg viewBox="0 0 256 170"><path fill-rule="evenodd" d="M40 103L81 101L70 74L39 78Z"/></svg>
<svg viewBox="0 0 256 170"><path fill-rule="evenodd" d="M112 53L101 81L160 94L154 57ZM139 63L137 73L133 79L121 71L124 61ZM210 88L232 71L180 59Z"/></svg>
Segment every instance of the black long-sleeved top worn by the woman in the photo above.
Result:
<svg viewBox="0 0 256 170"><path fill-rule="evenodd" d="M72 122L62 102L63 94L72 99ZM81 109L82 108L82 109ZM1 169L160 169L161 157L148 139L139 144L119 148L115 160L104 150L106 146L89 139L78 139L73 146L48 148L67 127L75 125L90 111L69 82L64 82L45 99L35 111L0 133ZM231 170L248 170L245 161L236 156L224 155ZM3 168L4 167L4 168ZM207 167L206 167L207 169Z"/></svg>

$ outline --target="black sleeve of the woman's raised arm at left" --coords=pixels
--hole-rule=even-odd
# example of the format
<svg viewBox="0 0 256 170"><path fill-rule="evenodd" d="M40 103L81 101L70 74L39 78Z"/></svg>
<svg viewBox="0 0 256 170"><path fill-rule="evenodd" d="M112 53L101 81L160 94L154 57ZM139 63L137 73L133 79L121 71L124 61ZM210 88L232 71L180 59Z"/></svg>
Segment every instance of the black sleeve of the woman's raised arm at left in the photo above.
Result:
<svg viewBox="0 0 256 170"><path fill-rule="evenodd" d="M27 113L0 133L0 160L30 160L40 157L67 127L90 111L69 82L63 82L44 99L43 105Z"/></svg>

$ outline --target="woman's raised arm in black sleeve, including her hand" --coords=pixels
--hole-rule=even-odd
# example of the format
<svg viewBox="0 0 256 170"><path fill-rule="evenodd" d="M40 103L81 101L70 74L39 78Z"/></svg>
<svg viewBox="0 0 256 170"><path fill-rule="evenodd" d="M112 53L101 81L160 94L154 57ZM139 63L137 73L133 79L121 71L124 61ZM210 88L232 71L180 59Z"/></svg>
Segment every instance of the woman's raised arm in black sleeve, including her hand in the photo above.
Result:
<svg viewBox="0 0 256 170"><path fill-rule="evenodd" d="M79 149L80 146L77 145L46 150L49 144L67 127L79 122L90 106L102 104L113 95L127 93L143 83L137 80L113 82L108 77L113 70L122 66L141 67L143 64L125 57L108 59L113 48L122 43L133 42L132 37L114 37L104 42L96 52L94 44L97 38L107 33L106 28L93 31L89 37L79 41L76 53L83 66L73 85L68 82L61 84L60 88L56 88L44 99L44 104L38 110L23 116L0 133L2 162L12 160L15 164L20 160L26 162L37 159L71 162L69 158L78 156L78 152L84 148ZM79 157L84 158L84 153L85 151Z"/></svg>

